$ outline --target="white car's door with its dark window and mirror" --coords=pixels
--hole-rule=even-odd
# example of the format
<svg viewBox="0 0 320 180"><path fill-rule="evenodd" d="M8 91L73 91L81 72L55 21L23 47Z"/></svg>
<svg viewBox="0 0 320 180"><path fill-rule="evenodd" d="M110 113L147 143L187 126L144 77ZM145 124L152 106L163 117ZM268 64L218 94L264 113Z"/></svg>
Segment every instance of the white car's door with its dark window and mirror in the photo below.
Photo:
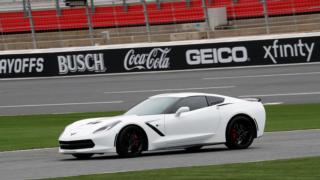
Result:
<svg viewBox="0 0 320 180"><path fill-rule="evenodd" d="M176 116L180 107L190 111ZM209 143L220 122L220 114L215 105L209 106L205 96L192 96L180 100L165 115L165 131L168 146L183 146Z"/></svg>

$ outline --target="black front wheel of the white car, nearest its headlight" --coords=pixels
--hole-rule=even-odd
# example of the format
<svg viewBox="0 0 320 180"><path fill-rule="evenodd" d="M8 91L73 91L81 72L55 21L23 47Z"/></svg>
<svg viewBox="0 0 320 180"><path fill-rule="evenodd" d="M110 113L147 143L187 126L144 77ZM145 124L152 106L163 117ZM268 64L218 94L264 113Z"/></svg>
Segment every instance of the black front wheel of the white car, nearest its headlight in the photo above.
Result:
<svg viewBox="0 0 320 180"><path fill-rule="evenodd" d="M144 150L146 143L145 132L140 127L131 125L120 131L116 150L120 157L136 157Z"/></svg>

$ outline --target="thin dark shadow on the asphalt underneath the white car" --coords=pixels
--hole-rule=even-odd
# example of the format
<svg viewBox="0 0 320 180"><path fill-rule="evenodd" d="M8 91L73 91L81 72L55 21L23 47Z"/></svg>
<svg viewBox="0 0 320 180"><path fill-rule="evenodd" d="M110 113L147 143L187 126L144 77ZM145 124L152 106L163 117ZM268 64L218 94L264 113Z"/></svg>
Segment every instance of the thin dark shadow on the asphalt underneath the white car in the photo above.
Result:
<svg viewBox="0 0 320 180"><path fill-rule="evenodd" d="M249 149L252 149L253 147L250 147ZM245 150L245 149L244 149ZM221 151L235 151L230 150L226 147L206 147L197 151L186 151L185 149L174 149L174 150L161 150L161 151L149 151L144 152L140 156L137 157L130 157L130 158L124 158L119 157L117 154L103 154L103 155L95 155L89 159L77 159L77 158L68 158L68 159L62 159L61 161L92 161L92 160L116 160L116 159L134 159L134 158L148 158L148 157L154 157L154 156L176 156L176 155L185 155L185 154L200 154L200 153L212 153L212 152L221 152ZM237 150L241 151L241 150Z"/></svg>

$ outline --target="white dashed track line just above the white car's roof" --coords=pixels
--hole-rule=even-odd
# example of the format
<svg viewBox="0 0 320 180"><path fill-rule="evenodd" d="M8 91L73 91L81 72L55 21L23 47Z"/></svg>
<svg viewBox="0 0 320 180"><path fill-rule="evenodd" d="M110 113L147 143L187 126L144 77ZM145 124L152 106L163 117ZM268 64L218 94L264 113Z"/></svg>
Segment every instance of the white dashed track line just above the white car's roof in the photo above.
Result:
<svg viewBox="0 0 320 180"><path fill-rule="evenodd" d="M228 89L236 86L216 86L216 87L202 87L202 88L179 88L179 89L150 89L150 90L135 90L135 91L110 91L105 94L127 94L127 93L145 93L145 92L164 92L164 91L190 91L190 90L206 90L206 89Z"/></svg>

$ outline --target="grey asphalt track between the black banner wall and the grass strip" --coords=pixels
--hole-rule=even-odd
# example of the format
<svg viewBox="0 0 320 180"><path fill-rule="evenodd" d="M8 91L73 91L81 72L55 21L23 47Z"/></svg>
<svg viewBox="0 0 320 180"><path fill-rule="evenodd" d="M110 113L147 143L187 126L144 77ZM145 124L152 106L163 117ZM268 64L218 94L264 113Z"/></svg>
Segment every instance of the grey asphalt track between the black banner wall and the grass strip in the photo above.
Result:
<svg viewBox="0 0 320 180"><path fill-rule="evenodd" d="M126 110L148 96L181 91L315 103L320 64L0 80L0 115Z"/></svg>

